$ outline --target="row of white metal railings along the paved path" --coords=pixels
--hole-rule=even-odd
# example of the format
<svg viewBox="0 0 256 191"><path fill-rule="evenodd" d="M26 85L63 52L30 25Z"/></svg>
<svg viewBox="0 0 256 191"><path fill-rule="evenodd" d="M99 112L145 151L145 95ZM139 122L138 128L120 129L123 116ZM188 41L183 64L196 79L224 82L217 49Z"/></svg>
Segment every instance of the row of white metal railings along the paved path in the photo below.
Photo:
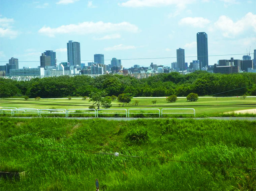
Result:
<svg viewBox="0 0 256 191"><path fill-rule="evenodd" d="M94 112L78 112L78 111L86 111L86 110L92 110ZM123 110L125 112L99 112L101 110ZM158 112L130 112L134 110L157 110ZM164 110L193 110L193 112L164 112ZM16 107L0 107L0 114L11 114L11 116L14 116L14 114L37 114L38 116L41 116L41 114L64 114L65 117L68 117L69 114L94 114L95 117L99 117L99 114L125 114L125 117L130 117L130 114L158 114L159 117L163 117L163 114L194 114L194 117L196 115L195 109L193 108L131 108L131 109L35 109L35 108L16 108Z"/></svg>

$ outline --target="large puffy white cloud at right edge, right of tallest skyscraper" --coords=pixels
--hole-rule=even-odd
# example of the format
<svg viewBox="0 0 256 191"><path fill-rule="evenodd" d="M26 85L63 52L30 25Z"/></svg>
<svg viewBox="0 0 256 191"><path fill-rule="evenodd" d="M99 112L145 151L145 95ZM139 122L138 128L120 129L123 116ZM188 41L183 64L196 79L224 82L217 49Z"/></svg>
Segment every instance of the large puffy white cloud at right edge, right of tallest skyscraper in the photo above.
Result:
<svg viewBox="0 0 256 191"><path fill-rule="evenodd" d="M236 22L231 18L222 15L210 29L211 31L221 31L222 35L227 38L234 38L246 31L256 32L256 14L249 12Z"/></svg>

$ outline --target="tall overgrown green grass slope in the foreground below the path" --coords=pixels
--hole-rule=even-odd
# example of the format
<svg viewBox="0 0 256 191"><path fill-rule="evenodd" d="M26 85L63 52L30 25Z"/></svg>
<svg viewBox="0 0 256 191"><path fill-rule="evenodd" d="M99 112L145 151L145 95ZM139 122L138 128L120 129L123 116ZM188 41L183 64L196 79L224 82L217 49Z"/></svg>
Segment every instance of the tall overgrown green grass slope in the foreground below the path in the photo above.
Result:
<svg viewBox="0 0 256 191"><path fill-rule="evenodd" d="M0 120L1 171L26 171L21 181L1 179L1 190L95 190L96 178L100 190L256 187L256 122Z"/></svg>

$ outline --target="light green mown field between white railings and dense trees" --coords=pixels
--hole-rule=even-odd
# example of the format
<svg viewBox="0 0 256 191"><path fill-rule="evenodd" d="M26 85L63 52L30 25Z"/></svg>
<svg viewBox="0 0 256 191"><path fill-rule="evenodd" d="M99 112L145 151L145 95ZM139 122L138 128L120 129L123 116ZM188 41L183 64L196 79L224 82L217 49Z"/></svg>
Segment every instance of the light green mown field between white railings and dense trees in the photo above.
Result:
<svg viewBox="0 0 256 191"><path fill-rule="evenodd" d="M136 100L138 101L138 106L135 106L133 104ZM196 117L223 116L222 113L224 112L256 108L255 98L246 98L246 99L240 99L239 97L238 98L199 98L198 101L196 102L187 102L185 98L180 98L175 103L168 103L166 99L158 98L156 99L157 100L156 104L152 104L152 100L155 100L155 99L133 98L131 102L128 104L123 104L118 101L113 101L112 102L113 106L111 108L125 108L125 109L159 108L160 110L162 108L194 108L196 111ZM250 107L248 107L248 105L244 105L244 104L253 104L253 105L250 105ZM1 99L0 100L0 106L2 107L17 107L17 108L18 107L38 108L38 109L63 108L63 109L79 110L82 108L88 108L89 105L92 105L92 102L89 102L89 100L82 100L82 99L71 99L71 100L41 99L39 101L35 101L34 99L29 99L28 101L25 101L23 99L16 99L16 100ZM133 112L140 112L140 110L136 110ZM144 112L150 112L150 111L144 110ZM178 110L177 112L184 112L184 110ZM182 115L182 116L193 116L193 115ZM239 116L239 114L231 113L231 114L224 114L224 116ZM250 116L255 116L255 115L251 114Z"/></svg>

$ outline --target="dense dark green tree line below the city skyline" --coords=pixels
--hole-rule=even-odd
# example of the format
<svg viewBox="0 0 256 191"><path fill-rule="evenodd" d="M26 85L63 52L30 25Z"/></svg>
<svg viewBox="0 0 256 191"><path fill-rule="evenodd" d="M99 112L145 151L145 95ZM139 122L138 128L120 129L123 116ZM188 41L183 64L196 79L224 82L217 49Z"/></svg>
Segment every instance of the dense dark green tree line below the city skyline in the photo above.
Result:
<svg viewBox="0 0 256 191"><path fill-rule="evenodd" d="M102 75L95 79L84 75L60 76L32 79L29 82L0 78L0 96L84 97L98 91L104 91L107 96L129 94L135 97L187 96L192 92L199 96L241 96L255 95L255 83L254 73L212 74L205 71L196 71L187 75L172 72L139 80L121 75Z"/></svg>

